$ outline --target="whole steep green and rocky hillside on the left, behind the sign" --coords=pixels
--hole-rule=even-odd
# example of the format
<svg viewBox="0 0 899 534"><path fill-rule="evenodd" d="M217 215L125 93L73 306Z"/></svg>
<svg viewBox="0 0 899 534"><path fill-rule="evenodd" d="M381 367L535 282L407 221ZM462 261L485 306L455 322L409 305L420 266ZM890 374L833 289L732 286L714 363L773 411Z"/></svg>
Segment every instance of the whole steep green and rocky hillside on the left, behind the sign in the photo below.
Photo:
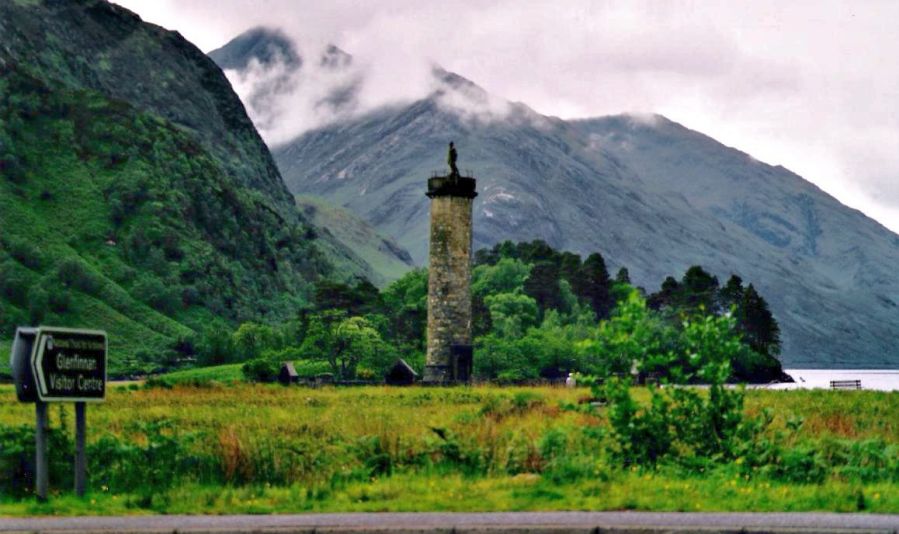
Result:
<svg viewBox="0 0 899 534"><path fill-rule="evenodd" d="M215 63L106 2L0 2L0 174L0 344L104 328L114 372L167 365L370 269L299 214Z"/></svg>

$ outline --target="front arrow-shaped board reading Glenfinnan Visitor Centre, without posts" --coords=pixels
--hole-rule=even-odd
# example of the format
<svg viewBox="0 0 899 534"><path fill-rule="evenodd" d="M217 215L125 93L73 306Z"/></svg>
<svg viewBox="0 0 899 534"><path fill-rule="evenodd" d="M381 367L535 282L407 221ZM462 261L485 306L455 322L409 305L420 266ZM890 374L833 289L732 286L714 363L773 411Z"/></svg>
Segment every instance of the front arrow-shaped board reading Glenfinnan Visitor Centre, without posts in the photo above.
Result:
<svg viewBox="0 0 899 534"><path fill-rule="evenodd" d="M102 402L106 398L106 332L39 327L31 369L41 401Z"/></svg>

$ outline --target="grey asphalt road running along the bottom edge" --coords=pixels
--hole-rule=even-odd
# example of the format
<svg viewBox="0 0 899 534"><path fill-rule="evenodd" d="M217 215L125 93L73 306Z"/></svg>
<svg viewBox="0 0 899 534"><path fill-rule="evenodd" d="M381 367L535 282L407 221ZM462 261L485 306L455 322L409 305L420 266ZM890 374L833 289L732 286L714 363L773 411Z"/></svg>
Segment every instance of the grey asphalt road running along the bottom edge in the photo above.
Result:
<svg viewBox="0 0 899 534"><path fill-rule="evenodd" d="M104 534L215 532L300 534L328 532L655 533L655 532L878 532L899 534L899 515L830 513L376 513L234 516L0 518L0 532Z"/></svg>

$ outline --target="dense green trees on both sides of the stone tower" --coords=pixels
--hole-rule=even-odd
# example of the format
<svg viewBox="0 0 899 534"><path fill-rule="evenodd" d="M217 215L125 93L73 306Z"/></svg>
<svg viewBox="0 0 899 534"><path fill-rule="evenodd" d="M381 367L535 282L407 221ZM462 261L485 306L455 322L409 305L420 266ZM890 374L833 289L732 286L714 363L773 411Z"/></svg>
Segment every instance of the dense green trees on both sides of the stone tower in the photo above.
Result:
<svg viewBox="0 0 899 534"><path fill-rule="evenodd" d="M304 368L342 379L380 377L399 357L420 370L427 278L416 269L382 291L366 280L320 281L313 306L295 320L245 323L224 343L220 332L211 332L198 352L208 364L269 362L263 366L269 374L285 360L317 361L319 367ZM693 266L647 294L631 284L626 268L612 278L598 253L582 259L542 241L504 242L475 254L471 287L475 373L482 379L580 372L696 380L691 361L697 350L712 350L701 342L707 339L723 340L715 350L727 352L732 380L781 376L777 321L736 275L722 287ZM671 369L683 376L671 376Z"/></svg>

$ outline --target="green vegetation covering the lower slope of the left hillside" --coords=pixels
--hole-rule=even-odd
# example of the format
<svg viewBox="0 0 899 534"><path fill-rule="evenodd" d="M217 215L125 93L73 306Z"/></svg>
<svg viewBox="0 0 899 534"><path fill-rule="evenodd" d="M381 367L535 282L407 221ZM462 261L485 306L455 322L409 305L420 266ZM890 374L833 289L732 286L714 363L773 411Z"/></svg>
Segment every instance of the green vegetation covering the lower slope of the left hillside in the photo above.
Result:
<svg viewBox="0 0 899 534"><path fill-rule="evenodd" d="M271 188L230 172L239 139L223 159L197 132L47 68L0 67L0 335L47 318L102 327L117 373L167 365L210 322L274 323L307 306L332 268ZM233 361L223 348L207 361Z"/></svg>

